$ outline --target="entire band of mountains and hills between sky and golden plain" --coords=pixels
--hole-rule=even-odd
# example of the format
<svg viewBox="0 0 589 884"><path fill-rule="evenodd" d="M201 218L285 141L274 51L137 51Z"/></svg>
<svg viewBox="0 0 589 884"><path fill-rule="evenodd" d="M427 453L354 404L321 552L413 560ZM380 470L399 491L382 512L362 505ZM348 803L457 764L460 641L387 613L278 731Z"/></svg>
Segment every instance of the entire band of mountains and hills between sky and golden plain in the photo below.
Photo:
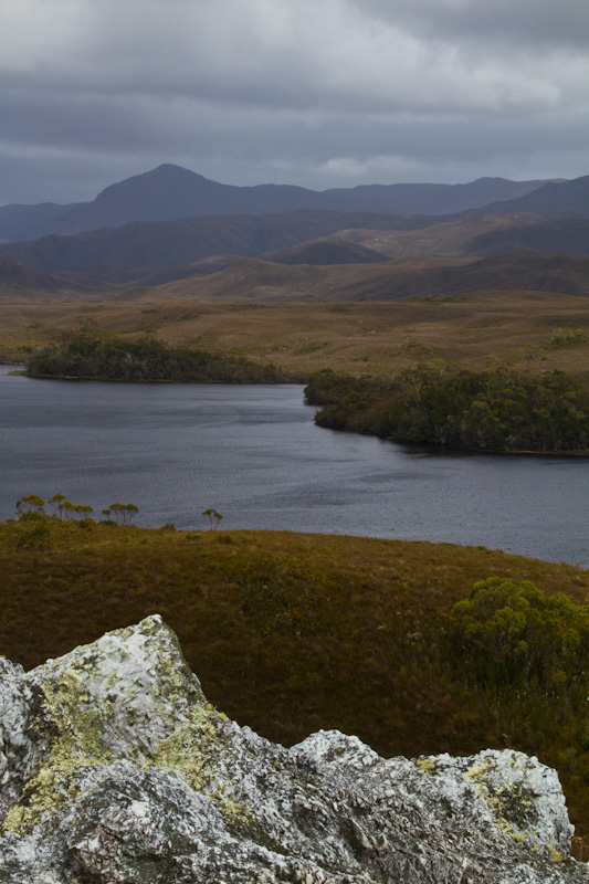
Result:
<svg viewBox="0 0 589 884"><path fill-rule="evenodd" d="M589 296L589 177L318 193L229 187L160 166L91 203L0 209L0 233L24 228L0 245L2 299L112 298L122 285L122 297L164 299L390 299L477 287Z"/></svg>

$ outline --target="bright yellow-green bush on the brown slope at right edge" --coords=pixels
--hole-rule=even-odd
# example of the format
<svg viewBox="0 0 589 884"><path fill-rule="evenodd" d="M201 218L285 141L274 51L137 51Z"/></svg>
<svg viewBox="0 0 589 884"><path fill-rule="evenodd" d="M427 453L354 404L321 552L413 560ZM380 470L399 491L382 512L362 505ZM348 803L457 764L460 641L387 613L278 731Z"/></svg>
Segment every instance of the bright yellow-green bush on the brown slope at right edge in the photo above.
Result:
<svg viewBox="0 0 589 884"><path fill-rule="evenodd" d="M495 720L501 740L556 767L586 829L589 783L589 606L534 583L491 577L452 609L449 659L467 685L472 724Z"/></svg>

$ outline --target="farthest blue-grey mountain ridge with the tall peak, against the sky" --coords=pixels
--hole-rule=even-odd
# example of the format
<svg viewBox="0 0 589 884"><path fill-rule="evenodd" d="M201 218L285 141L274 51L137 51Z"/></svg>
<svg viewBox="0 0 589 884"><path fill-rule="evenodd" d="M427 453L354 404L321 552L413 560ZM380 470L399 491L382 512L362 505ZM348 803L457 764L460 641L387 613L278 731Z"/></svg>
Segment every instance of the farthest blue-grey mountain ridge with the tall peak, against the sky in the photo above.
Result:
<svg viewBox="0 0 589 884"><path fill-rule="evenodd" d="M111 185L92 202L1 207L0 241L35 240L51 233L75 234L134 221L171 221L206 214L265 215L324 209L444 215L519 199L545 183L481 178L465 185L365 185L319 192L288 185L222 185L166 164Z"/></svg>

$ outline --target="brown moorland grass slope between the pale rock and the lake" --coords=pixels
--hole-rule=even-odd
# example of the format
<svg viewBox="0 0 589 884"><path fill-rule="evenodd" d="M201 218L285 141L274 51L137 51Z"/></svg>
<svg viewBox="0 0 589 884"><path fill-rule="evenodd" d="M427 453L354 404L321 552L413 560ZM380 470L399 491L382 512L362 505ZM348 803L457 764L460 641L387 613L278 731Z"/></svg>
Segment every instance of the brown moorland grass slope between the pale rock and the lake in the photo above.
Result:
<svg viewBox="0 0 589 884"><path fill-rule="evenodd" d="M477 580L582 603L587 570L450 544L44 519L0 525L0 651L25 667L158 612L211 702L264 736L336 727L385 756L511 746L559 769L589 832L589 753L566 697L490 697L449 639Z"/></svg>

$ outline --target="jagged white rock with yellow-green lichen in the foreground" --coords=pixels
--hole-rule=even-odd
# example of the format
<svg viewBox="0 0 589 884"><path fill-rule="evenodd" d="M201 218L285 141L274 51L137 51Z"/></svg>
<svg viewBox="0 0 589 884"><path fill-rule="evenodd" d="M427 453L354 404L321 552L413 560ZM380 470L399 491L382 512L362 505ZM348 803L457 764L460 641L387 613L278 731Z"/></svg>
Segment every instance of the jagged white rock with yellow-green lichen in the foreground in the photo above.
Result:
<svg viewBox="0 0 589 884"><path fill-rule="evenodd" d="M0 660L0 821L2 884L589 884L536 758L285 749L207 703L159 617Z"/></svg>

